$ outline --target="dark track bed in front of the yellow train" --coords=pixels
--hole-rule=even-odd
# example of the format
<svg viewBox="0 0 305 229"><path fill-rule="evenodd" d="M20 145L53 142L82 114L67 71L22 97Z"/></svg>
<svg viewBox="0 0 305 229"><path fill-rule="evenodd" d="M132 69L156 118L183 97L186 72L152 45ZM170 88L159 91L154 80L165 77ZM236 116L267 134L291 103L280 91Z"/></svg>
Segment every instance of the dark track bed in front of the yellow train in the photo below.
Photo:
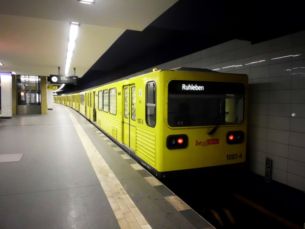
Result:
<svg viewBox="0 0 305 229"><path fill-rule="evenodd" d="M303 229L298 224L271 212L244 197L239 179L224 174L196 176L164 181L186 204L217 229ZM232 177L232 176L231 176ZM246 177L239 177L246 179Z"/></svg>

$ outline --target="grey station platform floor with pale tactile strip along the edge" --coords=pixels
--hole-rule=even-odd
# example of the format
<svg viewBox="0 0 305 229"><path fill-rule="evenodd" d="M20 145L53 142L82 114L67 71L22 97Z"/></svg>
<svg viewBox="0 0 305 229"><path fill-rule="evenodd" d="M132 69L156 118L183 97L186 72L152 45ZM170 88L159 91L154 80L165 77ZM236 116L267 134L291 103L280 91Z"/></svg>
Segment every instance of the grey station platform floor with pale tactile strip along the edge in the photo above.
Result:
<svg viewBox="0 0 305 229"><path fill-rule="evenodd" d="M214 228L77 111L0 119L0 228Z"/></svg>

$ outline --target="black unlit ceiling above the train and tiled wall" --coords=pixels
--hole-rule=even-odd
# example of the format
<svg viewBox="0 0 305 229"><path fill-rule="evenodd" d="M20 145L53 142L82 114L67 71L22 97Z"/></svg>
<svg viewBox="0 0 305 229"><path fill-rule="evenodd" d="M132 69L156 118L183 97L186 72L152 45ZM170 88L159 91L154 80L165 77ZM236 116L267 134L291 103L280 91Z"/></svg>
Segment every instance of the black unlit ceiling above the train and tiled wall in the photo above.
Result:
<svg viewBox="0 0 305 229"><path fill-rule="evenodd" d="M101 85L232 39L255 44L303 31L304 9L305 1L294 0L179 0L143 31L126 30L78 85L66 85L62 93Z"/></svg>

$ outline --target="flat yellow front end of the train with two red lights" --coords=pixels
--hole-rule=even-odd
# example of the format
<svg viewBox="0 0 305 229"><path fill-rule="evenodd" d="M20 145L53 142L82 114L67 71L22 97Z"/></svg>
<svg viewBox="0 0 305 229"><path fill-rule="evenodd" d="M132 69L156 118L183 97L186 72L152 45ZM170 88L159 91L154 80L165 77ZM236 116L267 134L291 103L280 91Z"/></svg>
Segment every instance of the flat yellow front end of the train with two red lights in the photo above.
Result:
<svg viewBox="0 0 305 229"><path fill-rule="evenodd" d="M163 71L162 78L158 176L244 163L248 76L202 70Z"/></svg>

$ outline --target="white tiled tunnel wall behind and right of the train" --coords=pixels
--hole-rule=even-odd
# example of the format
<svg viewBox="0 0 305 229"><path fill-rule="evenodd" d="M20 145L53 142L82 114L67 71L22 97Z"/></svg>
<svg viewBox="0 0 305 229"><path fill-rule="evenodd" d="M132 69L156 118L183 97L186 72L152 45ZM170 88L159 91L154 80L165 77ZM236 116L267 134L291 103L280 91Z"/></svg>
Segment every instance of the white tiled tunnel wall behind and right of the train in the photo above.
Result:
<svg viewBox="0 0 305 229"><path fill-rule="evenodd" d="M251 45L232 40L153 67L200 67L249 76L248 158L264 176L305 191L305 31ZM132 75L132 76L134 76Z"/></svg>

